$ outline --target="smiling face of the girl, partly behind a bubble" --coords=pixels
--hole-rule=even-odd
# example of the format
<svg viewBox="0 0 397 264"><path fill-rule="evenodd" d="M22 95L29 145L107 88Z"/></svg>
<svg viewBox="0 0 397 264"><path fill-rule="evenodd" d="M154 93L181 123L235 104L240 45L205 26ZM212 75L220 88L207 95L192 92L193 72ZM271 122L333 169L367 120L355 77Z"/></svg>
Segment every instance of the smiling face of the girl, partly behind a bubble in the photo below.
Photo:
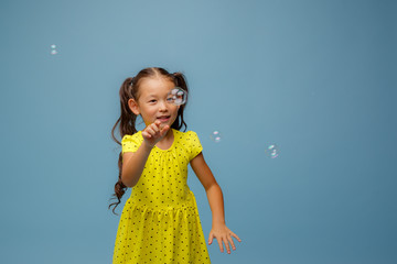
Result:
<svg viewBox="0 0 397 264"><path fill-rule="evenodd" d="M138 101L128 100L128 105L135 114L141 114L146 125L161 121L161 127L172 125L178 117L179 106L172 105L168 92L175 85L165 78L143 78L139 84Z"/></svg>

